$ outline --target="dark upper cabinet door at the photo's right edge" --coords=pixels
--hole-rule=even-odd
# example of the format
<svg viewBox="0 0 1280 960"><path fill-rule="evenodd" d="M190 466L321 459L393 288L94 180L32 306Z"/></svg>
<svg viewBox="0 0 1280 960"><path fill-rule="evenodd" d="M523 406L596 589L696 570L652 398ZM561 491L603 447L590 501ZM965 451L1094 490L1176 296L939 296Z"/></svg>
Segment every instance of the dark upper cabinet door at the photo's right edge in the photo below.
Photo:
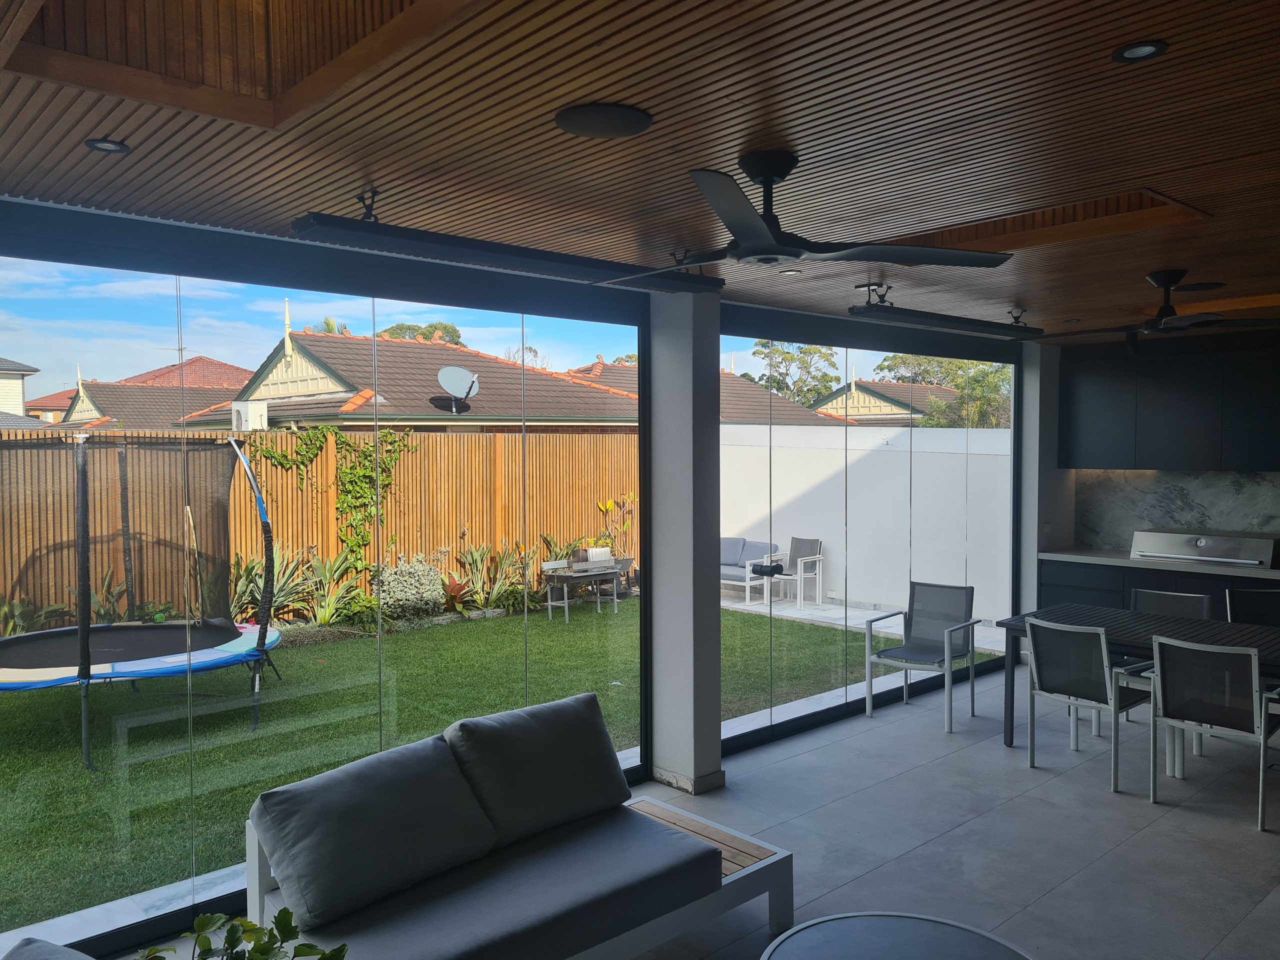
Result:
<svg viewBox="0 0 1280 960"><path fill-rule="evenodd" d="M1274 351L1222 356L1222 470L1280 470Z"/></svg>

